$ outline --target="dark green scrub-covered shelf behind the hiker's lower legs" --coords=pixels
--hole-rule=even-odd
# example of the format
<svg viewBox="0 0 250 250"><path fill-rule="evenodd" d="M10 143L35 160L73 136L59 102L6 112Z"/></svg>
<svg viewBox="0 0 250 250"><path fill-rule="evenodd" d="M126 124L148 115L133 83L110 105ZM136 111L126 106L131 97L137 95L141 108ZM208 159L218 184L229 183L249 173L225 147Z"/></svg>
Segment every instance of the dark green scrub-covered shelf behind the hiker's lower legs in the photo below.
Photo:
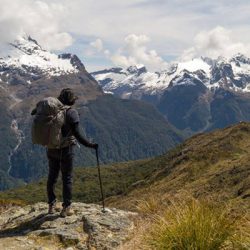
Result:
<svg viewBox="0 0 250 250"><path fill-rule="evenodd" d="M147 176L155 169L148 164L150 160L140 160L101 166L105 196L126 194L136 185L142 184ZM138 183L137 183L138 182ZM62 182L56 185L56 193L59 200L61 197ZM0 192L0 199L23 200L26 203L47 201L46 178L38 182ZM100 186L96 167L76 168L74 170L73 200L82 202L100 201Z"/></svg>

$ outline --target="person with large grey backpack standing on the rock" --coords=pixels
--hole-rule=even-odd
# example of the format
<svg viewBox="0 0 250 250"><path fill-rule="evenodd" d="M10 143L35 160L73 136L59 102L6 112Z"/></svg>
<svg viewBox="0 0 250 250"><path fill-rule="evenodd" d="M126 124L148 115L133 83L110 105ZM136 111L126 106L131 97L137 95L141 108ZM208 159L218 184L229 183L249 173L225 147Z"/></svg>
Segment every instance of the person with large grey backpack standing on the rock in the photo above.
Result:
<svg viewBox="0 0 250 250"><path fill-rule="evenodd" d="M49 97L39 102L36 109L34 109L31 113L32 115L36 115L32 127L33 143L47 146L47 157L49 162L49 174L47 180L49 214L53 214L58 210L58 207L56 206L57 200L55 195L55 184L57 182L60 170L62 173L63 208L60 213L62 217L70 216L73 214L71 208L72 173L76 140L86 147L94 149L98 148L97 143L89 142L80 132L79 115L78 112L74 108L72 108L76 100L77 97L73 93L72 89L66 88L61 91L58 98ZM58 107L60 107L60 109L58 109ZM49 132L47 133L49 134L48 140L46 139L46 136L44 136L48 129L46 130L46 125L42 126L40 121L44 119L44 113L46 113L47 117L49 117L48 113L53 111L55 111L54 117L56 118L53 118L52 120L57 120L57 122L54 123L58 124L61 121L62 126L57 125L57 129L55 128L54 130L50 127ZM62 113L61 119L60 112ZM50 117L52 117L52 115ZM60 139L59 142L56 141L58 136L53 135L53 132L56 133L55 131L58 130L58 126L60 127L60 138L63 138L63 140ZM45 130L45 132L41 132L41 130Z"/></svg>

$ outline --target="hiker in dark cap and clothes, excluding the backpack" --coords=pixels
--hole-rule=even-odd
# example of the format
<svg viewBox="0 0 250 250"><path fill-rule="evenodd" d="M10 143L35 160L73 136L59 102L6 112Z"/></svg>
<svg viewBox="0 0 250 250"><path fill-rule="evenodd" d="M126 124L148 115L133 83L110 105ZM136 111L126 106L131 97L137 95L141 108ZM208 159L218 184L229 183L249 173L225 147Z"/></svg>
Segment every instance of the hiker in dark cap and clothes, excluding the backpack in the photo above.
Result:
<svg viewBox="0 0 250 250"><path fill-rule="evenodd" d="M63 104L64 107L66 107L64 122L61 127L61 134L62 138L64 138L64 142L61 143L60 148L51 148L47 146L47 157L49 162L49 174L47 180L47 195L49 204L48 213L53 214L58 210L54 191L59 171L61 170L63 182L63 208L60 215L61 217L66 217L73 214L71 209L72 172L76 143L78 141L82 145L96 150L98 148L98 144L89 142L80 132L79 115L78 112L72 108L72 105L74 105L77 100L77 97L74 95L72 89L63 89L57 99L60 101L60 104ZM36 109L33 110L31 114L35 115Z"/></svg>

